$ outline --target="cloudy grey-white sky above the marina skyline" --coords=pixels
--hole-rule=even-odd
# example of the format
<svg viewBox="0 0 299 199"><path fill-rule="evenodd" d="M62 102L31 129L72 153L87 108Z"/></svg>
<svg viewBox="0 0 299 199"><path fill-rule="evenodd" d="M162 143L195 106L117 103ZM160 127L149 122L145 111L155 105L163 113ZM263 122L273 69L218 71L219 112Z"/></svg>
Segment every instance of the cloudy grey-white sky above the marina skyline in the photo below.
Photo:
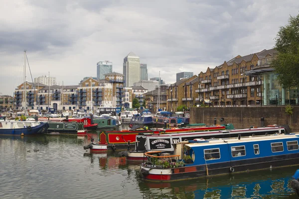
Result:
<svg viewBox="0 0 299 199"><path fill-rule="evenodd" d="M271 49L299 0L0 0L0 95L22 84L26 50L32 79L78 85L97 62L123 73L131 51L149 78L198 75L237 55ZM32 82L26 67L26 80Z"/></svg>

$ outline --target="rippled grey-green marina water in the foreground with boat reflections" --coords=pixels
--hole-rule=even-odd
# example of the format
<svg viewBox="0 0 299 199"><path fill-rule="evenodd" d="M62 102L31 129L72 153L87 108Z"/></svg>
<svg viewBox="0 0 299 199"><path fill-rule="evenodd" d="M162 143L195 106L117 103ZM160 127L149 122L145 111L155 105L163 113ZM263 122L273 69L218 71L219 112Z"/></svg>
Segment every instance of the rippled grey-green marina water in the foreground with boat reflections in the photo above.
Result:
<svg viewBox="0 0 299 199"><path fill-rule="evenodd" d="M76 135L0 136L0 199L298 199L290 187L297 167L149 183L139 164L118 151L89 154L88 143Z"/></svg>

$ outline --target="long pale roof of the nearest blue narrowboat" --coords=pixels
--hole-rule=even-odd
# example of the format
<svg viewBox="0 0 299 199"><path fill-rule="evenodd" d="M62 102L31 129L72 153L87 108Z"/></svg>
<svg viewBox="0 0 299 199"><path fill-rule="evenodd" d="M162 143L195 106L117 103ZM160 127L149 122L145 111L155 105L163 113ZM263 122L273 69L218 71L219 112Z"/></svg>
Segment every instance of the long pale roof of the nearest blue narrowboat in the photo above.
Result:
<svg viewBox="0 0 299 199"><path fill-rule="evenodd" d="M253 141L264 141L264 140L280 140L287 139L292 137L299 137L299 133L290 133L290 134L272 134L272 135L260 135L260 136L248 136L248 137L238 137L235 138L223 138L223 139L208 139L208 140L199 140L194 141L194 143L186 144L186 146L207 146L207 145L219 145L219 144L232 144L232 143L244 143L244 142L253 142ZM195 139L194 139L195 140ZM189 141L192 142L192 141Z"/></svg>

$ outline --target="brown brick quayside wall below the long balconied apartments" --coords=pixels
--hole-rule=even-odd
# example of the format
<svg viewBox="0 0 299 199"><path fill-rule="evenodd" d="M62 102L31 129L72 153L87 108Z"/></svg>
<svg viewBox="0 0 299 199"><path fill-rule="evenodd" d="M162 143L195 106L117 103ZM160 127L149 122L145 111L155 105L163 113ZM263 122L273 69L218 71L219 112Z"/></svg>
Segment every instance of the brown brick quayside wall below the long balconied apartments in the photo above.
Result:
<svg viewBox="0 0 299 199"><path fill-rule="evenodd" d="M299 132L299 106L293 107L293 115L286 113L286 106L244 106L244 107L191 107L190 123L205 123L213 125L232 123L236 129L261 126L288 124L292 132ZM224 118L224 121L220 121Z"/></svg>

